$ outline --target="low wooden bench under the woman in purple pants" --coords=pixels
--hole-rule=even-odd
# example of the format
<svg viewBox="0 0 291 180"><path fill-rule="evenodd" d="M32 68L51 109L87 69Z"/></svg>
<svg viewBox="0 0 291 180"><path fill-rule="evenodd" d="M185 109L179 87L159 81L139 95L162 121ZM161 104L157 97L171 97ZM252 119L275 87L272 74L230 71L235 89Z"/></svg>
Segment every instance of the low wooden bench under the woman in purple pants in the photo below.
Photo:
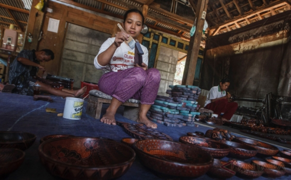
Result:
<svg viewBox="0 0 291 180"><path fill-rule="evenodd" d="M86 114L95 119L100 119L103 103L111 104L111 99L112 96L99 90L90 90ZM129 102L125 102L122 105L124 105L123 117L137 121L140 110L140 101L129 99Z"/></svg>

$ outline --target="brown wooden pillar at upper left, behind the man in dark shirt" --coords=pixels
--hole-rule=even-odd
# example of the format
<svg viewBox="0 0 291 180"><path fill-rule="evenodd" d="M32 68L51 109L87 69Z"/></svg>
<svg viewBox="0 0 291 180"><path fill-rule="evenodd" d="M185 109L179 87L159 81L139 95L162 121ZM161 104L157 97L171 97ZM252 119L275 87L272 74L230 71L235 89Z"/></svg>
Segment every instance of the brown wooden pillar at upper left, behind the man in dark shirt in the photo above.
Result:
<svg viewBox="0 0 291 180"><path fill-rule="evenodd" d="M47 3L49 0L46 0ZM39 2L39 0L33 0L32 1L32 7L29 15L29 20L27 24L27 29L26 29L26 36L25 36L25 41L24 41L24 49L28 50L38 50L38 38L40 35L40 32L42 30L43 22L44 22L44 17L45 13L38 11L37 9L34 8L34 6ZM28 35L29 33L32 34L32 43L28 42Z"/></svg>

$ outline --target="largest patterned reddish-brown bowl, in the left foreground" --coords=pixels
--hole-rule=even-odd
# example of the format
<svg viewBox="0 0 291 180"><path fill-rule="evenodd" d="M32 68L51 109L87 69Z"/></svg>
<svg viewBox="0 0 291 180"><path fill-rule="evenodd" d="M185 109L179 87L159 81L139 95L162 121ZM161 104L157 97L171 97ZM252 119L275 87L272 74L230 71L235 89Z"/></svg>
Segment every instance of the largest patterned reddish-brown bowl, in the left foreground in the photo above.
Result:
<svg viewBox="0 0 291 180"><path fill-rule="evenodd" d="M111 180L132 165L135 152L113 140L94 137L63 137L38 147L41 163L49 173L67 180Z"/></svg>

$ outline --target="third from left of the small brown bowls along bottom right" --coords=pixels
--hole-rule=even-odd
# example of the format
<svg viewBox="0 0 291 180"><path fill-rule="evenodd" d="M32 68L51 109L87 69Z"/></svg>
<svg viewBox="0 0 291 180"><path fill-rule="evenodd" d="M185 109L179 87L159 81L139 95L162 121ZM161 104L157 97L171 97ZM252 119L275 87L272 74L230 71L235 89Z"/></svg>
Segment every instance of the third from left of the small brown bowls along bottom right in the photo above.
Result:
<svg viewBox="0 0 291 180"><path fill-rule="evenodd" d="M257 165L259 169L264 171L264 174L270 178L279 178L283 176L286 172L280 166L266 163L259 160L253 160L252 163Z"/></svg>

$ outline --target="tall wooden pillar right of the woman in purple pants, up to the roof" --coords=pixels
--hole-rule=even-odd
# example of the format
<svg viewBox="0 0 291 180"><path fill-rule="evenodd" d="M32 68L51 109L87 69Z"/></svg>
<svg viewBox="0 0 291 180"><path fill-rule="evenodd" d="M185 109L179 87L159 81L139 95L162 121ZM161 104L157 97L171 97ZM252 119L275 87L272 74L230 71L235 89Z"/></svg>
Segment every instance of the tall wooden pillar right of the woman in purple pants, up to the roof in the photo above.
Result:
<svg viewBox="0 0 291 180"><path fill-rule="evenodd" d="M203 11L207 11L208 0L198 0L195 13L196 31L190 38L189 50L185 62L185 69L182 79L182 85L193 85L196 63L198 58L199 47L201 43L202 30L205 19L201 19ZM206 17L206 16L205 16Z"/></svg>

